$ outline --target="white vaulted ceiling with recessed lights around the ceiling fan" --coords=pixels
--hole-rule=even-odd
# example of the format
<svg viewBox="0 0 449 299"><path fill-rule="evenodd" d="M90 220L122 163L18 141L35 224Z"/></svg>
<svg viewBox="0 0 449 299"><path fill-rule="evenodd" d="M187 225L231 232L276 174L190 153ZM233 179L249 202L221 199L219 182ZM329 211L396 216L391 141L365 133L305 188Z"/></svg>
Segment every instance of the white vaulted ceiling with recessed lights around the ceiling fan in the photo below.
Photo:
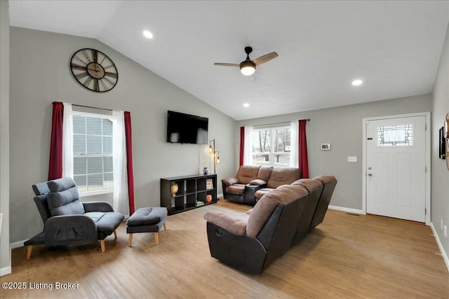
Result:
<svg viewBox="0 0 449 299"><path fill-rule="evenodd" d="M449 1L9 5L11 26L98 39L236 120L429 93L449 22ZM245 46L279 57L250 77L213 65L240 63Z"/></svg>

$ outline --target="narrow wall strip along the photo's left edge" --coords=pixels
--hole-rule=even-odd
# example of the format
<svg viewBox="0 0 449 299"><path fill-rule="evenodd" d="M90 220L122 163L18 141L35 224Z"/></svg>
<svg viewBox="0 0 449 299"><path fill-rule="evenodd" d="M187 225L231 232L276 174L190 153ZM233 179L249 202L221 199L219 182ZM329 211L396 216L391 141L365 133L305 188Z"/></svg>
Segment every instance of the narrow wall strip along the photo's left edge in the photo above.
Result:
<svg viewBox="0 0 449 299"><path fill-rule="evenodd" d="M11 272L9 246L9 3L0 1L0 275Z"/></svg>

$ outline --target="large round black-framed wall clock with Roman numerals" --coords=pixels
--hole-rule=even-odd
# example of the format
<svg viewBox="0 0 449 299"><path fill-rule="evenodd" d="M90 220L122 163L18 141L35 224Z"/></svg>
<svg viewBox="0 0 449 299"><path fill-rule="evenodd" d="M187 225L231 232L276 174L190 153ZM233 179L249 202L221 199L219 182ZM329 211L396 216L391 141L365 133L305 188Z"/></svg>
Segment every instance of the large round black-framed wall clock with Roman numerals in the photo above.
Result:
<svg viewBox="0 0 449 299"><path fill-rule="evenodd" d="M114 62L95 49L76 51L70 60L70 69L78 83L95 92L112 90L119 80Z"/></svg>

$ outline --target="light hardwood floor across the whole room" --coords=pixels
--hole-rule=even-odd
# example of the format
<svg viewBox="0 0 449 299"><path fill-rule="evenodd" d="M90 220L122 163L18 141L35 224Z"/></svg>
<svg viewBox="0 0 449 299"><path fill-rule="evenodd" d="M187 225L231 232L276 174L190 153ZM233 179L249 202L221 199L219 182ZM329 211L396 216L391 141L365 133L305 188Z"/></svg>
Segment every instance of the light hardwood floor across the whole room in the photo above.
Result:
<svg viewBox="0 0 449 299"><path fill-rule="evenodd" d="M168 216L167 230L98 244L12 251L4 282L27 289L0 290L1 298L449 298L449 273L431 229L381 216L328 210L323 223L262 275L249 275L210 257L203 214L250 207L217 204ZM46 285L39 285L39 283ZM55 289L57 283L76 289ZM34 286L34 289L30 289ZM52 286L52 290L37 289Z"/></svg>

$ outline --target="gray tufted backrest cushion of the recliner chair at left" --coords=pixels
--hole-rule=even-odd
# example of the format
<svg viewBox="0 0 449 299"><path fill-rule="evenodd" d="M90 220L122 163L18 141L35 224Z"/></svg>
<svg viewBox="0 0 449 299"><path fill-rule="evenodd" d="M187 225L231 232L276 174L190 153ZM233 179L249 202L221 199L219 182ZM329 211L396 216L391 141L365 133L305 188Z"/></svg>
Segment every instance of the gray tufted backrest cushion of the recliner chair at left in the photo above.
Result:
<svg viewBox="0 0 449 299"><path fill-rule="evenodd" d="M84 207L72 178L48 181L47 185L51 191L47 198L51 216L84 214Z"/></svg>

